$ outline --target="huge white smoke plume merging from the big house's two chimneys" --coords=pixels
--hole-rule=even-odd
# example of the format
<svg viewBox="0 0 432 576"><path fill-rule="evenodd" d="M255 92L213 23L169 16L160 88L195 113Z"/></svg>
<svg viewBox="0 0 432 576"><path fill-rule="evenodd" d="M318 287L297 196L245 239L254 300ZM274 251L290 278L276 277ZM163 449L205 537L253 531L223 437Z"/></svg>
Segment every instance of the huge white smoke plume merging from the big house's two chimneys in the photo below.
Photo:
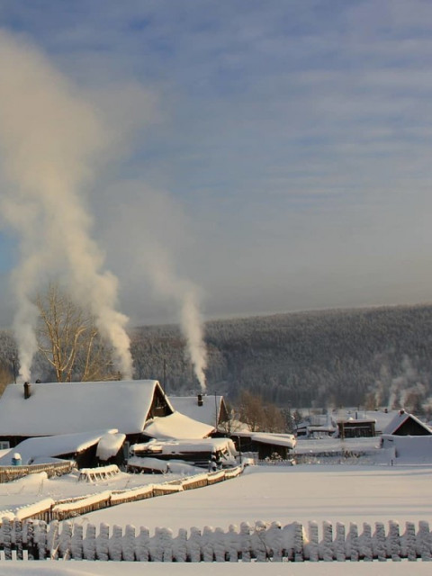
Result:
<svg viewBox="0 0 432 576"><path fill-rule="evenodd" d="M13 276L21 376L30 378L36 313L31 297L50 271L66 272L67 288L94 313L124 378L132 377L127 318L115 311L116 278L102 271L80 192L107 133L94 111L38 50L0 31L2 216L21 240ZM45 275L45 278L43 277Z"/></svg>

